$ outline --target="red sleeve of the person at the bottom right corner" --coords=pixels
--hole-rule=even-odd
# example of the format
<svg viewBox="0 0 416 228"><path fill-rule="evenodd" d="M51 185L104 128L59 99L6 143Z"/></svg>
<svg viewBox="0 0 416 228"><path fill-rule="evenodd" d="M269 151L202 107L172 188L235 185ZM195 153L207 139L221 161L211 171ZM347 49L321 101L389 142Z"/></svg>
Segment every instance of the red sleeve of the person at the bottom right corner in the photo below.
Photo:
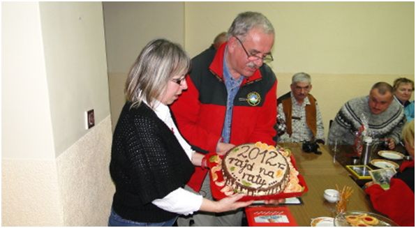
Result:
<svg viewBox="0 0 416 228"><path fill-rule="evenodd" d="M366 188L374 209L400 226L415 226L415 193L399 178L392 178L389 190L374 184Z"/></svg>

